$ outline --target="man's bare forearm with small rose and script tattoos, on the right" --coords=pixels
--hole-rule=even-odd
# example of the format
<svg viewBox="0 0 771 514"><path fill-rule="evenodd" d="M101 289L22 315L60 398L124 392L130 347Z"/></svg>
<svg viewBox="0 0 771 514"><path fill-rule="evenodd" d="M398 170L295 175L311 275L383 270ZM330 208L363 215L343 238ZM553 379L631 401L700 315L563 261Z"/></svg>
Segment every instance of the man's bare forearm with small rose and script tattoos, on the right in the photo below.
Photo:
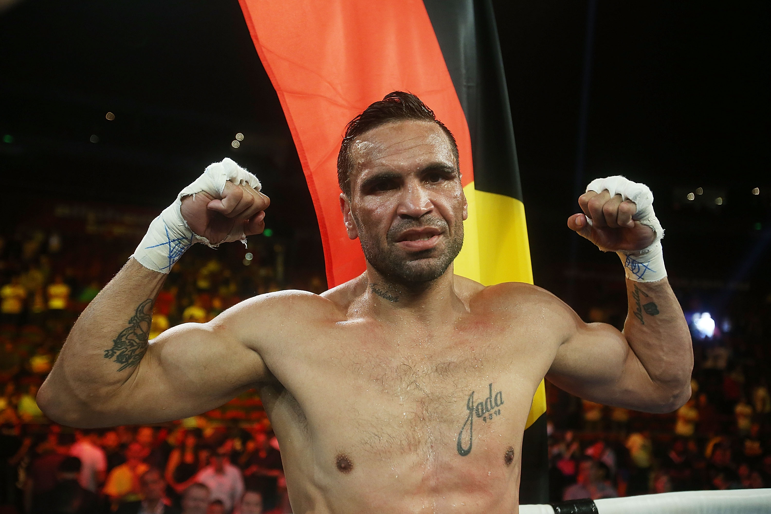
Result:
<svg viewBox="0 0 771 514"><path fill-rule="evenodd" d="M627 281L629 313L624 334L631 350L662 395L685 402L693 369L688 324L666 278ZM679 405L678 405L679 406Z"/></svg>

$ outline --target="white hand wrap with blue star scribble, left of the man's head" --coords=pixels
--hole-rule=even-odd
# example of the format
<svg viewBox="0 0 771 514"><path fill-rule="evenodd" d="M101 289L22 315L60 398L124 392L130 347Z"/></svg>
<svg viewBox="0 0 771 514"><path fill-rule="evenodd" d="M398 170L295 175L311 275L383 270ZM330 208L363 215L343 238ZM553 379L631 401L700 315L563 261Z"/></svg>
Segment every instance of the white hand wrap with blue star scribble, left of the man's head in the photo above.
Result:
<svg viewBox="0 0 771 514"><path fill-rule="evenodd" d="M227 157L221 163L210 164L203 175L180 191L177 200L150 223L145 237L131 257L148 270L168 274L174 263L192 244L200 242L210 247L217 247L222 243L237 240L246 244L246 235L243 230L240 234L230 233L224 240L212 244L206 237L193 233L180 213L183 197L195 196L196 193L203 192L221 199L227 181L234 184L247 184L258 191L261 189L260 181L256 176Z"/></svg>

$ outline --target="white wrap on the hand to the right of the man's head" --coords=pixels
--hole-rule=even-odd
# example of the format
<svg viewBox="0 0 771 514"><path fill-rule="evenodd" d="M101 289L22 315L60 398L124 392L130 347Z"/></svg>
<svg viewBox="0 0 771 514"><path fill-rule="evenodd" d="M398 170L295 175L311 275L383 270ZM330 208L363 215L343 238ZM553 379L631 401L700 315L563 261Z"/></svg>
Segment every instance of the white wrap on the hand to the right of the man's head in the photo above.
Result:
<svg viewBox="0 0 771 514"><path fill-rule="evenodd" d="M592 180L586 188L587 191L602 193L608 191L611 198L617 194L622 200L631 200L637 206L637 211L632 220L637 220L647 227L651 227L655 233L655 240L651 246L642 250L617 251L621 263L624 264L626 276L636 282L657 282L667 276L664 267L664 254L662 253L661 240L664 237L662 224L658 222L653 212L653 193L645 184L632 182L623 176L608 176L604 179ZM591 220L587 218L591 225ZM600 250L608 251L606 248Z"/></svg>

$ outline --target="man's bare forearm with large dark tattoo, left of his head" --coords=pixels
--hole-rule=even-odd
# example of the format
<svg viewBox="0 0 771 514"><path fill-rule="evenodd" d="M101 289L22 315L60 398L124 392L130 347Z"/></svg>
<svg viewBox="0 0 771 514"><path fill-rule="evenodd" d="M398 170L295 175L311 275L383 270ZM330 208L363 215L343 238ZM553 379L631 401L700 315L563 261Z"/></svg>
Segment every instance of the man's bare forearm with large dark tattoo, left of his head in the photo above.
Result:
<svg viewBox="0 0 771 514"><path fill-rule="evenodd" d="M166 275L130 259L86 307L40 388L43 412L69 425L96 425L147 350L153 302Z"/></svg>

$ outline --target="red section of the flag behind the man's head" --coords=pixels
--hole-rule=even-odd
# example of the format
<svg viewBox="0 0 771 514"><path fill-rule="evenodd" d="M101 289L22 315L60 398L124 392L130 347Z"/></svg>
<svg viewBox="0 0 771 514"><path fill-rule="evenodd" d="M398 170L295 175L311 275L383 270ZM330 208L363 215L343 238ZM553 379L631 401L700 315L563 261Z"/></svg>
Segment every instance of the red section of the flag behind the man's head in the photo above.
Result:
<svg viewBox="0 0 771 514"><path fill-rule="evenodd" d="M365 270L340 212L337 156L345 124L393 90L416 94L453 131L463 185L471 141L421 0L240 0L254 46L278 92L322 233L329 287Z"/></svg>

